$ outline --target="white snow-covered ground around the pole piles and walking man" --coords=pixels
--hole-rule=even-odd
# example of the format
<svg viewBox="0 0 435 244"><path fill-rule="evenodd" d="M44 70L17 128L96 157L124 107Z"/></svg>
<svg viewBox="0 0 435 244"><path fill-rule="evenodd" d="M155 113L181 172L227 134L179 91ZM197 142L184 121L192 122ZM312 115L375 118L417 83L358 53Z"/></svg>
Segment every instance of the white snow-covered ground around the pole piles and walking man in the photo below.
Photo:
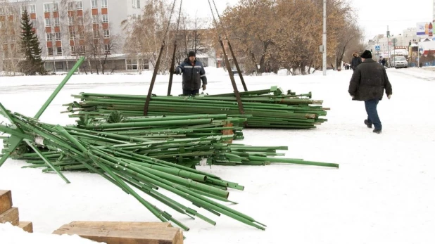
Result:
<svg viewBox="0 0 435 244"><path fill-rule="evenodd" d="M225 72L206 71L209 94L232 91ZM331 110L329 121L317 129L245 129L246 139L241 143L288 146L283 151L287 158L340 164L340 169L278 164L198 167L244 185L245 191L230 191L229 199L239 203L231 207L267 224L266 231L208 214L217 221L210 226L158 206L191 228L184 233L188 244L435 243L435 72L409 68L388 69L387 73L393 96L379 103L382 134L365 127L363 103L351 101L347 92L350 70L331 70L326 77L322 72L245 77L249 90L278 85L297 93L313 91L313 99L324 100L324 107ZM0 102L14 112L33 116L61 79L0 77ZM63 103L73 101L71 94L146 94L150 80L151 72L73 76L41 120L73 123L67 114L59 113ZM165 95L167 83L168 76L158 76L153 93ZM180 76L175 77L172 92L181 93ZM56 174L21 169L24 165L7 160L0 168L0 188L12 191L20 219L33 221L37 233L48 234L79 220L158 221L101 176L65 172L72 182L65 184ZM11 233L0 225L0 236Z"/></svg>

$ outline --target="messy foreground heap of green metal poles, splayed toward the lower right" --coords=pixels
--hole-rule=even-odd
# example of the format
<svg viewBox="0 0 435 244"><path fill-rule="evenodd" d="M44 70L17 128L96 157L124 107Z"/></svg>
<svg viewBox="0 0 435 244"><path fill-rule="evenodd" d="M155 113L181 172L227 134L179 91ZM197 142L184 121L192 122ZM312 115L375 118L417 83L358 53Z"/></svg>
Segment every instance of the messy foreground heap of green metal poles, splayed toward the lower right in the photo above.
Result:
<svg viewBox="0 0 435 244"><path fill-rule="evenodd" d="M281 155L276 150L286 147L253 147L225 143L232 139L232 135L156 140L94 130L106 127L103 124L89 124L88 129L46 124L18 113L10 113L1 104L0 113L11 122L0 124L0 131L11 135L4 139L2 153L5 155L11 153L11 158L30 162L32 165L28 167L42 167L45 172L56 172L67 183L69 181L61 173L62 170L87 170L99 174L137 198L161 221L172 221L184 230L189 227L168 212L151 205L133 188L156 198L177 212L192 218L198 217L213 225L215 221L159 193L158 188L175 193L213 214L225 214L244 224L265 229L265 225L252 217L217 203L216 200L234 203L228 200L227 188L243 190L243 186L198 171L192 166L203 158L208 158L209 162L219 165L266 165L270 162L284 162L339 167L324 162L274 157ZM116 124L115 127L122 126ZM9 148L15 148L17 143L18 148L11 152Z"/></svg>

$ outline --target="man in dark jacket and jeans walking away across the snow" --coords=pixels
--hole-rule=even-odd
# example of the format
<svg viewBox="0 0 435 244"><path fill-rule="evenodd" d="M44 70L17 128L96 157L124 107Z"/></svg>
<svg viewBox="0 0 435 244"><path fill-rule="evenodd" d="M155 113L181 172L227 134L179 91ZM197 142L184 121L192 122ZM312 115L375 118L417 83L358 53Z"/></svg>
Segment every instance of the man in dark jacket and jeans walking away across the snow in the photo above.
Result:
<svg viewBox="0 0 435 244"><path fill-rule="evenodd" d="M367 120L364 120L364 124L369 128L372 128L373 124L373 132L380 134L382 124L377 114L377 104L384 96L384 89L389 99L393 94L393 89L384 66L372 59L370 51L365 50L361 54L361 58L363 63L353 71L351 84L349 84L349 94L351 94L353 100L364 101L365 110L367 111Z"/></svg>

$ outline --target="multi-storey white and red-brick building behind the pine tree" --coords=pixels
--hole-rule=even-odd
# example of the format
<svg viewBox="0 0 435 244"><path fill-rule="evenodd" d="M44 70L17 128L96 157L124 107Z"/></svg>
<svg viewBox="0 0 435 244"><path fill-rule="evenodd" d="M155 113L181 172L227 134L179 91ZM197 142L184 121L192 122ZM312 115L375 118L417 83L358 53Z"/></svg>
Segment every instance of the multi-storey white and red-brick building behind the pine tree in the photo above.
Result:
<svg viewBox="0 0 435 244"><path fill-rule="evenodd" d="M4 13L7 18L19 21L20 16L11 17L12 11L8 9L19 8L19 13L27 9L41 42L46 70L67 71L78 56L85 54L94 57L94 62L98 57L106 60L108 70L134 70L138 65L132 64L138 61L122 54L121 23L130 16L140 15L144 1L14 0L9 1L6 11L0 9L0 20ZM92 68L90 62L87 65Z"/></svg>

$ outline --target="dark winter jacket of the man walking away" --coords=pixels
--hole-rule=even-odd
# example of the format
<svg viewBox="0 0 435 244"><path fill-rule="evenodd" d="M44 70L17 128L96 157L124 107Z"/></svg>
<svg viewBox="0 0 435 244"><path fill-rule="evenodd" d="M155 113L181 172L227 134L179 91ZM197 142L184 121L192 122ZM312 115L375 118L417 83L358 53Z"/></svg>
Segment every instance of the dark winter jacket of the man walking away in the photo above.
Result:
<svg viewBox="0 0 435 244"><path fill-rule="evenodd" d="M353 71L348 91L355 96L353 100L367 101L374 98L382 100L384 89L387 96L393 94L385 68L372 58L367 58Z"/></svg>

